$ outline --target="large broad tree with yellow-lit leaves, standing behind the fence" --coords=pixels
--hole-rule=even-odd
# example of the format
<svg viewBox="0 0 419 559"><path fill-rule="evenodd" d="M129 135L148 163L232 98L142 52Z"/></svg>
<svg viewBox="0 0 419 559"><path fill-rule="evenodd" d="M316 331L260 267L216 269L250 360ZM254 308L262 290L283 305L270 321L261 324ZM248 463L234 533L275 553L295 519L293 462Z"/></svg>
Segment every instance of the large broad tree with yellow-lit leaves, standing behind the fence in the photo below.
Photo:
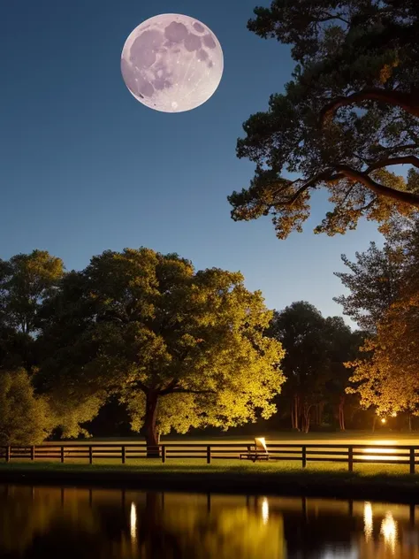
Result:
<svg viewBox="0 0 419 559"><path fill-rule="evenodd" d="M269 417L284 382L281 345L265 335L271 316L240 273L105 251L46 302L41 342L55 349L38 382L51 405L91 402L92 414L120 394L150 445L171 428Z"/></svg>

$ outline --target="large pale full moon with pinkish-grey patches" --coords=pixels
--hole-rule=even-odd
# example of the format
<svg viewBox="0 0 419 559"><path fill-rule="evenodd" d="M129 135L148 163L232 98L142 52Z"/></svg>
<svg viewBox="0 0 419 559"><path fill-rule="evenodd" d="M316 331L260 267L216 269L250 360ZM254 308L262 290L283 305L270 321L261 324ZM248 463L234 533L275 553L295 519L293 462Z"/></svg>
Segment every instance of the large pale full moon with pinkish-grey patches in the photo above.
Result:
<svg viewBox="0 0 419 559"><path fill-rule="evenodd" d="M224 57L209 27L178 13L147 19L126 39L121 71L137 101L163 112L191 111L221 81Z"/></svg>

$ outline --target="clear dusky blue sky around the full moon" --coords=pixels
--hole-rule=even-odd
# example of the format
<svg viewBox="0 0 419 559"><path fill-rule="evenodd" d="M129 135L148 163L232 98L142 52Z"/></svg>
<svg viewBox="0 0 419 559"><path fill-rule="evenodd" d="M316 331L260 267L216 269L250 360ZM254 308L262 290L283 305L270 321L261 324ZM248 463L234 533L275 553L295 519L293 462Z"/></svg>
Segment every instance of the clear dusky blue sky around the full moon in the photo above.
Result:
<svg viewBox="0 0 419 559"><path fill-rule="evenodd" d="M269 218L234 223L226 196L254 166L235 157L241 124L290 79L289 49L246 27L267 0L12 0L0 5L0 257L47 249L81 269L104 249L178 252L196 268L240 270L270 308L298 300L340 314L334 271L380 240L375 224L329 238L312 229L278 241ZM120 74L126 37L142 20L202 20L224 50L216 94L164 114L135 101Z"/></svg>

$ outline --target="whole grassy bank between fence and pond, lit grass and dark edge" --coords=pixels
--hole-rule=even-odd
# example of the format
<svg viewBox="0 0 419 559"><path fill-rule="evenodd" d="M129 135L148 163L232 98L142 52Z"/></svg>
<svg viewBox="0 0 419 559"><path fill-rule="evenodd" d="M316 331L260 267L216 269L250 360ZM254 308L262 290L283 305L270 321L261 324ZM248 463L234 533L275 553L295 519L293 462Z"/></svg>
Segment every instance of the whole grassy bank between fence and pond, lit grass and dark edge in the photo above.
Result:
<svg viewBox="0 0 419 559"><path fill-rule="evenodd" d="M3 483L110 486L240 494L283 494L354 500L419 502L419 475L406 468L360 464L353 473L340 464L159 461L117 463L2 463Z"/></svg>

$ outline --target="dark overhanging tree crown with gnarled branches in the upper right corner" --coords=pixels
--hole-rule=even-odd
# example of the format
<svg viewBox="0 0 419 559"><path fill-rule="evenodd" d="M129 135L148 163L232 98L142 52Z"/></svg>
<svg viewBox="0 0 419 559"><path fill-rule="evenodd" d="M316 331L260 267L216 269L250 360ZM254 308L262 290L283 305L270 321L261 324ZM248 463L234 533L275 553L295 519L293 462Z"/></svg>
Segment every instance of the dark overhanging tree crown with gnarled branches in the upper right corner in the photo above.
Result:
<svg viewBox="0 0 419 559"><path fill-rule="evenodd" d="M385 230L394 213L417 209L416 0L273 0L248 29L292 45L297 64L285 92L243 125L237 154L255 162L255 177L229 196L232 218L270 215L286 238L317 188L333 209L316 233L345 233L362 216ZM394 165L408 165L407 178Z"/></svg>

